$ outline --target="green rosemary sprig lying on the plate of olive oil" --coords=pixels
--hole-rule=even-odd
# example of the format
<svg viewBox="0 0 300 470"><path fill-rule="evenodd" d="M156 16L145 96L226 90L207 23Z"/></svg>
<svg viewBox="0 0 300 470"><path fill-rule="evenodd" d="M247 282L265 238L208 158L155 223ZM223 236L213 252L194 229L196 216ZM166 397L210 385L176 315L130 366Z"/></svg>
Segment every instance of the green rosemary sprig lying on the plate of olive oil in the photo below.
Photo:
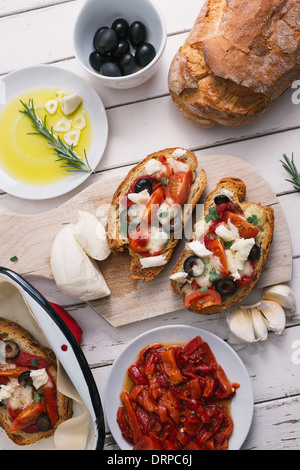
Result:
<svg viewBox="0 0 300 470"><path fill-rule="evenodd" d="M73 145L66 145L59 136L55 136L53 134L53 128L51 127L51 129L49 129L47 127L47 115L44 121L39 118L32 99L28 101L28 104L24 103L22 100L20 100L20 102L24 108L20 110L20 113L25 114L25 116L31 120L33 128L36 131L30 134L41 135L48 141L49 146L58 157L56 161L62 163L62 168L66 168L69 172L84 171L90 173L92 171L87 160L86 151L84 150L85 161L83 161L73 150Z"/></svg>

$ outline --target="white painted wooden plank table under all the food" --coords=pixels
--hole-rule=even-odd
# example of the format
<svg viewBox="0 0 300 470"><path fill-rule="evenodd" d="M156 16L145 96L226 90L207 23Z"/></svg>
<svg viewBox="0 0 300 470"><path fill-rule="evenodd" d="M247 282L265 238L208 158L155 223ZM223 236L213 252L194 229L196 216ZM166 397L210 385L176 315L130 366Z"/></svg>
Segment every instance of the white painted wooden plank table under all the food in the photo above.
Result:
<svg viewBox="0 0 300 470"><path fill-rule="evenodd" d="M126 2L124 2L126 3ZM85 78L99 93L109 121L108 145L97 172L87 182L55 200L28 201L1 192L0 211L36 214L57 207L77 194L103 172L138 162L152 151L180 146L204 155L235 155L258 170L270 184L284 210L292 238L293 278L298 310L288 316L282 336L270 335L266 343L238 348L252 381L255 411L243 449L297 449L300 439L300 194L285 178L282 154L295 155L300 168L300 105L292 103L288 90L254 124L238 128L199 129L175 110L168 94L167 74L171 59L192 27L202 1L160 0L168 41L161 67L145 85L116 91L105 89L89 77L74 58L73 26L83 0L1 0L0 74L37 64L55 64ZM281 260L278 260L280 263ZM166 324L189 324L221 338L228 331L219 316L201 317L184 309L155 319L114 328L92 308L66 297L54 282L30 281L52 302L64 306L83 330L82 349L103 398L114 359L138 334ZM107 430L106 449L117 449Z"/></svg>

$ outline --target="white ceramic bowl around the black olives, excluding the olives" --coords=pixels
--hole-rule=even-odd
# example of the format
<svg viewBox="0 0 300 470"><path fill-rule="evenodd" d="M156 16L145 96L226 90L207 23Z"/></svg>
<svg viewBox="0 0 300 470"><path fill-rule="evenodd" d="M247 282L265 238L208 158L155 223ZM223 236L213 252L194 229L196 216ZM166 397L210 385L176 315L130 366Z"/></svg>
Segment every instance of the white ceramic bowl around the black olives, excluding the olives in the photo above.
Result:
<svg viewBox="0 0 300 470"><path fill-rule="evenodd" d="M147 29L147 42L156 50L155 58L144 68L122 77L107 77L96 72L89 63L93 38L101 26L111 26L117 18L129 24L141 21ZM151 0L87 0L81 9L74 29L75 56L82 67L110 88L132 88L149 80L157 71L165 49L167 33L164 19Z"/></svg>

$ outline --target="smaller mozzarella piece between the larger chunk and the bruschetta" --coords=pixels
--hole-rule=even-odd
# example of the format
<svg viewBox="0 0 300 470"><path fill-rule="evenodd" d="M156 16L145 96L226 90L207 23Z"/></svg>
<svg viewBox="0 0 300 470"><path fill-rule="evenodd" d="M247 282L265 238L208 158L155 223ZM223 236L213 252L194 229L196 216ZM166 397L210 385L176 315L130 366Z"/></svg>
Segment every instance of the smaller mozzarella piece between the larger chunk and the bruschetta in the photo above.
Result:
<svg viewBox="0 0 300 470"><path fill-rule="evenodd" d="M97 217L90 212L78 211L78 222L71 225L72 233L88 256L103 261L110 255L106 232Z"/></svg>

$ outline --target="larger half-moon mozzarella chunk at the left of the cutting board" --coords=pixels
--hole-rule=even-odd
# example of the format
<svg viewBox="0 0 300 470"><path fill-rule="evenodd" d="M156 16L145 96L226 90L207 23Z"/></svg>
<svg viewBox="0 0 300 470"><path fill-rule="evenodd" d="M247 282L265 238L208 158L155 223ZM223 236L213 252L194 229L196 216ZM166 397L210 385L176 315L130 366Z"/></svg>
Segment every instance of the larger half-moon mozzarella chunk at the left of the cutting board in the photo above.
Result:
<svg viewBox="0 0 300 470"><path fill-rule="evenodd" d="M66 295L88 302L110 294L97 264L73 236L71 224L55 237L50 261L54 280Z"/></svg>

